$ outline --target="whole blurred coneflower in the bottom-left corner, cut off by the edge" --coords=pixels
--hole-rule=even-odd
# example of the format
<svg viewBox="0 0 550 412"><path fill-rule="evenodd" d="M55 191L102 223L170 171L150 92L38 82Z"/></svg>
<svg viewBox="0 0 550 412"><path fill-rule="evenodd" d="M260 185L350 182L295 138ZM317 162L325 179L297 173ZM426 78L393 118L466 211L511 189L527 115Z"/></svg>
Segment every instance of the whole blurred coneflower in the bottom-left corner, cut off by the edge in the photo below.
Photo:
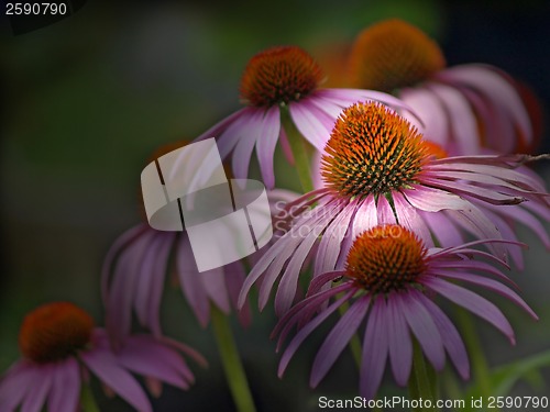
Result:
<svg viewBox="0 0 550 412"><path fill-rule="evenodd" d="M23 358L0 380L0 410L74 412L89 375L139 411L151 403L132 372L142 375L154 394L162 382L188 389L195 378L179 352L200 364L188 346L148 335L129 336L113 352L105 330L80 308L68 302L42 305L26 315L19 344Z"/></svg>

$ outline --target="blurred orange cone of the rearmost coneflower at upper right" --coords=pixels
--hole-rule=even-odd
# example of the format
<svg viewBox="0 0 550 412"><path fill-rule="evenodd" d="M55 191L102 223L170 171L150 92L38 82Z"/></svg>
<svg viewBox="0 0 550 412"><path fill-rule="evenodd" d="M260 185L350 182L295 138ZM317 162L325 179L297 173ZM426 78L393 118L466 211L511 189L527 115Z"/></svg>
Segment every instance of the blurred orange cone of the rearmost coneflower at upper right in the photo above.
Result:
<svg viewBox="0 0 550 412"><path fill-rule="evenodd" d="M446 66L436 42L399 19L359 34L349 58L352 87L392 92L429 78Z"/></svg>

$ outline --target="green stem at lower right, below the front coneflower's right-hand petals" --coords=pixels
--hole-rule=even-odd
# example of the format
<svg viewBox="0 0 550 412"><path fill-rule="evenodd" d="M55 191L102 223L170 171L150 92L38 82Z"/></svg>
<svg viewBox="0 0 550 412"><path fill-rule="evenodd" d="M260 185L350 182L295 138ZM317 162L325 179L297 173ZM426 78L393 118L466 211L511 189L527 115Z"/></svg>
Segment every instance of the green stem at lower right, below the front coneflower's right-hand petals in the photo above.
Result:
<svg viewBox="0 0 550 412"><path fill-rule="evenodd" d="M493 386L491 383L491 372L487 360L483 355L482 345L475 331L474 322L470 312L458 308L458 321L462 337L468 348L472 365L472 375L480 387L481 394L487 399L493 396Z"/></svg>

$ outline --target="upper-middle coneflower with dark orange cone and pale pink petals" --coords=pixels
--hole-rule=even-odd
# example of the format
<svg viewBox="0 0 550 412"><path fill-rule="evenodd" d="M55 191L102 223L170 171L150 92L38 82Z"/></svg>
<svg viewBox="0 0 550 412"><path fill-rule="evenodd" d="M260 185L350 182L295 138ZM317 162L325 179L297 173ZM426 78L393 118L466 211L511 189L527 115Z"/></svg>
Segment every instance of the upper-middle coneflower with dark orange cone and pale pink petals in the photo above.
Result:
<svg viewBox="0 0 550 412"><path fill-rule="evenodd" d="M217 137L222 158L232 153L234 177L246 178L254 147L265 186L275 185L273 156L280 141L287 158L289 144L282 127L282 110L288 110L302 136L318 151L327 143L340 111L358 100L377 100L404 108L398 99L371 90L320 89L320 66L297 46L278 46L256 54L241 80L245 108L222 120L197 140Z"/></svg>

